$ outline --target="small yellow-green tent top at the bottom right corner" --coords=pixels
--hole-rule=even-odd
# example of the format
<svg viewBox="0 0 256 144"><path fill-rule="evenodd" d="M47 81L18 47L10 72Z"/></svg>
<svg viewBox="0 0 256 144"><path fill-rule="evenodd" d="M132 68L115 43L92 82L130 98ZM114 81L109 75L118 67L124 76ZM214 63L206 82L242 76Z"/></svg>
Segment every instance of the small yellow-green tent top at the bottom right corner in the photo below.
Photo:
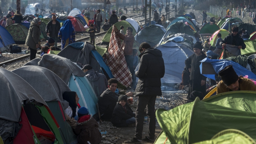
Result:
<svg viewBox="0 0 256 144"><path fill-rule="evenodd" d="M256 144L246 133L236 129L226 129L211 138L194 144Z"/></svg>

